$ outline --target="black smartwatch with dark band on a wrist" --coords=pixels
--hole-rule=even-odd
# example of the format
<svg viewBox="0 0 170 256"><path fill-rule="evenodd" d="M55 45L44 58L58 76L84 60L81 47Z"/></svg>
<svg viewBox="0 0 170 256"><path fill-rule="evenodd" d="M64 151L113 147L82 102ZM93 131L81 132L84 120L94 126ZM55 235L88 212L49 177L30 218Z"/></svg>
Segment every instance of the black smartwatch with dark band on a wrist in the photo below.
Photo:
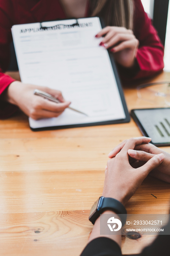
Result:
<svg viewBox="0 0 170 256"><path fill-rule="evenodd" d="M124 214L120 215L119 217L121 219L122 226L125 224L127 211L123 204L114 198L104 196L100 196L98 200L93 204L89 215L89 221L91 221L94 225L96 219L100 217L100 214L107 210L111 210L118 215Z"/></svg>

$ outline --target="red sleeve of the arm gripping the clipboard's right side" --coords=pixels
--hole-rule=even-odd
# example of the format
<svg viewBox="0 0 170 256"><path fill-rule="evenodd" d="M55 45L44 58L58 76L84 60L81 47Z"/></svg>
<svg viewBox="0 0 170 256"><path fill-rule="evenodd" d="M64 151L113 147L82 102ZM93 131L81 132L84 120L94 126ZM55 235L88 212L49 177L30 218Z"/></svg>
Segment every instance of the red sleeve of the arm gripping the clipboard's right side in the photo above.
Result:
<svg viewBox="0 0 170 256"><path fill-rule="evenodd" d="M139 40L136 56L139 71L134 79L152 76L164 67L164 48L141 0L134 0L134 35Z"/></svg>

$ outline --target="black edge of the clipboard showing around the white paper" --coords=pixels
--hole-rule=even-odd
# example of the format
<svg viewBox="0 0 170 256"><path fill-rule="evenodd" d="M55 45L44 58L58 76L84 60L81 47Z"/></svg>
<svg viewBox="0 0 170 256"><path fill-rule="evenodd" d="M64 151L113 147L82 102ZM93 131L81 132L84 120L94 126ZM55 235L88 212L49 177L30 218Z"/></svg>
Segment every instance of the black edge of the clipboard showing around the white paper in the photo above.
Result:
<svg viewBox="0 0 170 256"><path fill-rule="evenodd" d="M103 18L98 17L98 16L96 16L96 17L100 19L101 27L104 28L105 24L104 24ZM89 17L89 18L95 18L95 17ZM72 19L76 19L76 18L72 18ZM84 18L78 18L78 20L79 19L84 19ZM69 19L56 19L56 21L57 20L69 20ZM48 20L48 21L55 21L55 20ZM48 21L45 21L45 22L48 22ZM40 22L40 23L43 23L43 22ZM87 127L87 126L97 126L97 125L107 125L107 124L129 123L130 122L130 114L128 112L127 105L126 105L126 102L125 102L124 93L123 93L120 78L119 78L119 75L118 75L118 72L117 72L115 60L114 60L113 54L110 53L109 50L108 50L108 54L109 54L109 58L110 58L112 68L113 68L113 72L114 72L114 75L115 75L115 79L116 79L117 88L118 88L118 91L119 91L119 94L120 94L121 102L122 102L122 105L123 105L125 118L124 119L111 120L111 121L90 123L90 124L86 123L86 124L76 124L76 125L60 125L60 126L43 127L43 128L32 128L30 126L31 131L35 132L35 131L45 131L45 130L54 130L54 129L67 129L67 128L76 128L76 127Z"/></svg>

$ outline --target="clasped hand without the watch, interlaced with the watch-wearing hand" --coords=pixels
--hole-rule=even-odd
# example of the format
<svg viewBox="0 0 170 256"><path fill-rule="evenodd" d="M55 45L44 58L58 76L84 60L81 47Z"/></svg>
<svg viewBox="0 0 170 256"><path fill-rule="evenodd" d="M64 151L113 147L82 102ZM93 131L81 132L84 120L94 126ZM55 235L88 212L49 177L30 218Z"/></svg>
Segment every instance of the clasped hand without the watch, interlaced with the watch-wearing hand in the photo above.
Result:
<svg viewBox="0 0 170 256"><path fill-rule="evenodd" d="M136 144L134 149L128 150L131 165L134 167L142 166L155 155L163 153L163 162L158 167L154 168L150 172L150 175L158 178L159 180L170 183L170 154L149 143L151 141L150 138L147 138L147 140L147 142ZM121 151L127 141L128 140L124 140L117 147L113 148L113 150L109 153L109 158L115 157Z"/></svg>

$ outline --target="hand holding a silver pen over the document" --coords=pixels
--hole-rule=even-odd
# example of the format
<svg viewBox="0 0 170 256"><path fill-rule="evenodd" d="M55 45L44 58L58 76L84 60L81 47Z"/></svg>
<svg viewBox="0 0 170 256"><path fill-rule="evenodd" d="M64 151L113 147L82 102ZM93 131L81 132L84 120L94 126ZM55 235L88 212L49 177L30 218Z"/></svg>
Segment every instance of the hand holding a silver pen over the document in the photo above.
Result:
<svg viewBox="0 0 170 256"><path fill-rule="evenodd" d="M58 98L61 103L55 103L45 98L34 95L34 90L39 89ZM11 104L18 106L27 116L35 120L59 116L69 105L57 90L43 86L12 82L4 92L3 98Z"/></svg>

